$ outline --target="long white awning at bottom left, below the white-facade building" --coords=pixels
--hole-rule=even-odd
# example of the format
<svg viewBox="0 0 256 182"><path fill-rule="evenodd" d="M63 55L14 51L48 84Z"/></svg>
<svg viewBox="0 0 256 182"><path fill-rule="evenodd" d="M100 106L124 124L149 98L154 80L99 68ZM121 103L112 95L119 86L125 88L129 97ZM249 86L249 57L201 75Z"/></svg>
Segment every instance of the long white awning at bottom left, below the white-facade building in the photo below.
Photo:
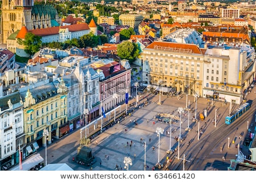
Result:
<svg viewBox="0 0 256 182"><path fill-rule="evenodd" d="M19 165L11 169L11 171L28 171L32 167L35 167L39 163L43 162L44 159L40 154L34 154L30 158L22 161L22 169L19 168Z"/></svg>

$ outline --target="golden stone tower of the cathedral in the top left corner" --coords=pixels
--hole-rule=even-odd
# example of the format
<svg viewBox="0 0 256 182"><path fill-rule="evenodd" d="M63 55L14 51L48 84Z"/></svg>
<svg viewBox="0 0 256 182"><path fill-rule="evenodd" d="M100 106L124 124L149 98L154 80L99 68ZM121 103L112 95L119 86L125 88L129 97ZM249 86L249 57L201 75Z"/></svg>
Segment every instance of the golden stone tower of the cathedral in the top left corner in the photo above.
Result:
<svg viewBox="0 0 256 182"><path fill-rule="evenodd" d="M2 0L1 44L6 44L7 38L23 25L32 29L32 6L34 0Z"/></svg>

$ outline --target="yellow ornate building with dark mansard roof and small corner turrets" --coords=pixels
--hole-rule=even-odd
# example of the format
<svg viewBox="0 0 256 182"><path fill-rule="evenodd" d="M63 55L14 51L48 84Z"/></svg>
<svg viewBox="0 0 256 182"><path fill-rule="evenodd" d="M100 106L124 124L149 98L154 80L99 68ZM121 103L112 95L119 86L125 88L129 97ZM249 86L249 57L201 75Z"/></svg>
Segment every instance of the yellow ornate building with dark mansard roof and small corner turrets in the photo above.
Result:
<svg viewBox="0 0 256 182"><path fill-rule="evenodd" d="M39 146L46 145L43 136L44 130L48 130L47 143L51 143L53 138L59 139L69 132L67 93L68 89L63 81L57 88L52 82L49 82L20 93L24 103L26 156L31 155Z"/></svg>

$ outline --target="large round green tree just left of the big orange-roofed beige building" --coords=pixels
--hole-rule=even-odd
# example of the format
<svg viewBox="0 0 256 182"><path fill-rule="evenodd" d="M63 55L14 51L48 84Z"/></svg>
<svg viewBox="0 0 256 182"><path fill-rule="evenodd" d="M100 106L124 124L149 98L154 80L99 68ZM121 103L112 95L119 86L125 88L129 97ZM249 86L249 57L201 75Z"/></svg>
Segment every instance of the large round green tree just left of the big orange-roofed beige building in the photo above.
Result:
<svg viewBox="0 0 256 182"><path fill-rule="evenodd" d="M137 44L125 41L117 46L117 55L121 59L127 59L132 63L139 56Z"/></svg>

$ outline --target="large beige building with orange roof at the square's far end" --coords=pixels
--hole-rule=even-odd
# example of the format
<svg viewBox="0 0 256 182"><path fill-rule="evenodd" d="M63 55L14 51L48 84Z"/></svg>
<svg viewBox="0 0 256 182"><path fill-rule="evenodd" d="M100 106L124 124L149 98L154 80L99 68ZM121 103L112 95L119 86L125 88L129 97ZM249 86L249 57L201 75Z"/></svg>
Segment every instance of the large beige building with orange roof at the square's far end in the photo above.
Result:
<svg viewBox="0 0 256 182"><path fill-rule="evenodd" d="M204 54L199 47L155 41L142 56L144 84L202 96Z"/></svg>

